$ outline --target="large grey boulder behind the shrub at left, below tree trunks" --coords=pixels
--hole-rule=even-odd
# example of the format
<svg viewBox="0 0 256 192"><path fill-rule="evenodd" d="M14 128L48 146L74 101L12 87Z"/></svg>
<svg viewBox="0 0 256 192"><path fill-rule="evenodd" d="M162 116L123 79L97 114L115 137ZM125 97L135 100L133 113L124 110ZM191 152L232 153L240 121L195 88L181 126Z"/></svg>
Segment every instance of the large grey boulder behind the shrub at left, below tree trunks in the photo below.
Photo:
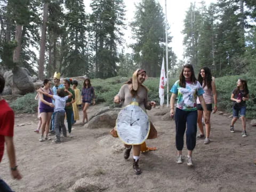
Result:
<svg viewBox="0 0 256 192"><path fill-rule="evenodd" d="M13 91L12 94L27 94L35 91L34 84L29 71L24 68L14 67L13 68Z"/></svg>

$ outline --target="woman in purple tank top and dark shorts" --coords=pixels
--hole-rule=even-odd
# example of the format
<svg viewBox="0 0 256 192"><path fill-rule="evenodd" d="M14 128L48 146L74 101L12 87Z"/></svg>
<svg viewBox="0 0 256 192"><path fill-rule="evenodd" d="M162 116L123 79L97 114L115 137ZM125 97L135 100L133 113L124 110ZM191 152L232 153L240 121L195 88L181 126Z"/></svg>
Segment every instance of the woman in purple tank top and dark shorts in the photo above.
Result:
<svg viewBox="0 0 256 192"><path fill-rule="evenodd" d="M41 89L42 91L53 94L51 88L51 81L49 79L44 79L44 87ZM50 128L50 122L51 122L51 116L53 113L54 105L52 103L52 98L43 95L42 93L39 93L40 97L40 104L39 104L39 111L42 118L42 125L41 125L41 136L39 138L39 141L44 141L44 132L45 132L45 140L51 140L51 138L48 137L49 128Z"/></svg>

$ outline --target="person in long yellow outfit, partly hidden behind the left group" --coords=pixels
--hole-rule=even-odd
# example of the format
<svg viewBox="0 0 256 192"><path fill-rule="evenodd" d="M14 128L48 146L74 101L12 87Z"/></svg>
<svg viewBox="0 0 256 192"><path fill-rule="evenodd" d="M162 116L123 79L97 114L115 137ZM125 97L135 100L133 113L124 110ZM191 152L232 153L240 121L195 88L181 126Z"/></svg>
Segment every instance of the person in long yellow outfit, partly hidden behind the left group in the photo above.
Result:
<svg viewBox="0 0 256 192"><path fill-rule="evenodd" d="M73 90L75 92L75 102L72 104L73 106L73 116L72 116L72 124L76 123L77 120L79 120L79 112L78 112L78 106L81 105L81 92L79 89L77 89L78 82L73 81Z"/></svg>

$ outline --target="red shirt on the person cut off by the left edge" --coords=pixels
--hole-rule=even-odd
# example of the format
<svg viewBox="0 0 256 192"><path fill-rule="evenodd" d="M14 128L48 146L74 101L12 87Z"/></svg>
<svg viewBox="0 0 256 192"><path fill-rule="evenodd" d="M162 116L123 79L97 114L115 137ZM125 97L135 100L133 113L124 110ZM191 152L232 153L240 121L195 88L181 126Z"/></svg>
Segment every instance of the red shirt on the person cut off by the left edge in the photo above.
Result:
<svg viewBox="0 0 256 192"><path fill-rule="evenodd" d="M14 112L8 103L0 100L0 162L4 155L4 137L13 137Z"/></svg>

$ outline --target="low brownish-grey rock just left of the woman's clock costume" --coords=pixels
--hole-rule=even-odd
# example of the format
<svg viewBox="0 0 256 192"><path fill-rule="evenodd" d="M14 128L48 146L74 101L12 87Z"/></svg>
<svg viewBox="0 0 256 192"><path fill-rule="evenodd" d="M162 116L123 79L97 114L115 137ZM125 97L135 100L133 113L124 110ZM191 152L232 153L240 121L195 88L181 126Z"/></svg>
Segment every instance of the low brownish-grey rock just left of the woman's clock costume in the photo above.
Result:
<svg viewBox="0 0 256 192"><path fill-rule="evenodd" d="M93 117L85 127L89 129L97 129L101 127L113 128L116 125L118 111L107 111L101 115Z"/></svg>

